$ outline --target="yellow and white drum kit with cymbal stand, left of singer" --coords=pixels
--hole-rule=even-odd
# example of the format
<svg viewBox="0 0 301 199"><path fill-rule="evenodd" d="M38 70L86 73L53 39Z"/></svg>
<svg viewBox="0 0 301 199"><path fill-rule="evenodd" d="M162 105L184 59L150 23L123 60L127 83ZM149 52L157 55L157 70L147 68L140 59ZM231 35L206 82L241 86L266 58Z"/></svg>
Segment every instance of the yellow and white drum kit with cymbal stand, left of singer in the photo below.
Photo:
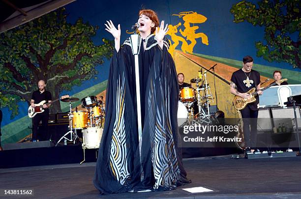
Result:
<svg viewBox="0 0 301 199"><path fill-rule="evenodd" d="M103 121L105 117L105 107L103 106L103 96L97 100L96 96L87 96L81 100L82 108L84 110L72 111L71 102L79 101L79 98L69 97L61 99L62 102L69 102L69 131L63 135L58 141L57 145L64 140L75 143L79 139L77 131L81 130L83 133L82 147L84 149L99 148L100 139L103 132Z"/></svg>

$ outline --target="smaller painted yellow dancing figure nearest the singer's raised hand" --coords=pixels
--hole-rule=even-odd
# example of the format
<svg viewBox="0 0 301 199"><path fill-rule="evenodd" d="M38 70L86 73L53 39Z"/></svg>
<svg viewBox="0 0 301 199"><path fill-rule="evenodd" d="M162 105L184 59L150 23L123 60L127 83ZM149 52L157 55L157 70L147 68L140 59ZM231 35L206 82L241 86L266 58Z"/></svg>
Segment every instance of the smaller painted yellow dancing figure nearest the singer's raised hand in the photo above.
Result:
<svg viewBox="0 0 301 199"><path fill-rule="evenodd" d="M179 26L181 26L181 22L175 26L173 25L168 25L168 31L166 34L171 36L172 41L174 42L171 47L169 48L169 53L174 56L174 51L176 49L176 47L179 45L180 41L182 42L182 46L181 46L181 50L186 53L187 49L188 49L188 44L186 42L186 40L181 37L178 36L176 33L178 32L178 28Z"/></svg>

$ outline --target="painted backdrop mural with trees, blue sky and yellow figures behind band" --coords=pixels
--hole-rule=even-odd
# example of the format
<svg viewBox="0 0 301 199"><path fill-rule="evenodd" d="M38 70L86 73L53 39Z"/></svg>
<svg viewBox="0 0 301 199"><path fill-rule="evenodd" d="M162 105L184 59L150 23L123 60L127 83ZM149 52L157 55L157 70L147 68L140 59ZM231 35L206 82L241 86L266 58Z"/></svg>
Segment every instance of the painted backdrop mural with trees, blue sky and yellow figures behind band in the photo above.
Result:
<svg viewBox="0 0 301 199"><path fill-rule="evenodd" d="M131 6L130 6L131 5ZM254 57L261 79L281 70L290 84L301 84L300 3L297 0L146 0L120 1L116 6L98 0L77 0L20 27L0 34L0 109L3 143L30 135L27 116L31 93L39 79L47 82L53 99L63 94L84 98L105 95L113 38L104 31L111 19L121 26L121 40L151 8L169 25L170 53L185 82L208 72L213 100L228 117L236 117L229 83L245 55ZM123 10L120 12L120 10ZM121 41L121 42L122 42ZM216 94L215 95L215 91ZM75 108L79 102L73 103ZM52 113L66 112L58 102Z"/></svg>

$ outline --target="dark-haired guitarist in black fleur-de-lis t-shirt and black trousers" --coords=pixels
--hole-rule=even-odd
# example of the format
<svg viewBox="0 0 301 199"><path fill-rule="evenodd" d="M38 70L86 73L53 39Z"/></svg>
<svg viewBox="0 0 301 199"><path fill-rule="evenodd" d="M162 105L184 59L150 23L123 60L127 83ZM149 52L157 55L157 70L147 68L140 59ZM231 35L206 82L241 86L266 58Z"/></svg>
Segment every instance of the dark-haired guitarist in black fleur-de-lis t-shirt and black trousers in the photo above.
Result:
<svg viewBox="0 0 301 199"><path fill-rule="evenodd" d="M250 56L243 57L242 68L235 71L231 77L230 92L234 95L248 99L250 94L246 93L251 88L255 87L258 94L262 95L260 90L260 75L259 72L252 70L253 58ZM255 97L256 101L248 104L241 110L242 118L257 118L259 97ZM243 136L245 142L245 152L254 152L256 149L257 140L257 119L243 119ZM251 126L251 128L250 128Z"/></svg>

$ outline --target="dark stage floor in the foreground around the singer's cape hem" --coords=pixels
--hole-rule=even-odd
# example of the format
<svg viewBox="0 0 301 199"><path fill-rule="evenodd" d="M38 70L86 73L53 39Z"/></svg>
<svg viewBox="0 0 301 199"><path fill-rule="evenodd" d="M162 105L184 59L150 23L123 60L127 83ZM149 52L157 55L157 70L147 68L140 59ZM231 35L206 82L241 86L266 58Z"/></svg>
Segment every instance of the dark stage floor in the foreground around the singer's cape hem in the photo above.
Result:
<svg viewBox="0 0 301 199"><path fill-rule="evenodd" d="M301 157L231 159L230 156L185 160L192 183L173 191L100 196L92 184L95 163L10 168L0 170L0 190L34 189L45 199L129 198L301 198ZM213 190L191 194L182 188ZM0 198L3 197L2 193Z"/></svg>

